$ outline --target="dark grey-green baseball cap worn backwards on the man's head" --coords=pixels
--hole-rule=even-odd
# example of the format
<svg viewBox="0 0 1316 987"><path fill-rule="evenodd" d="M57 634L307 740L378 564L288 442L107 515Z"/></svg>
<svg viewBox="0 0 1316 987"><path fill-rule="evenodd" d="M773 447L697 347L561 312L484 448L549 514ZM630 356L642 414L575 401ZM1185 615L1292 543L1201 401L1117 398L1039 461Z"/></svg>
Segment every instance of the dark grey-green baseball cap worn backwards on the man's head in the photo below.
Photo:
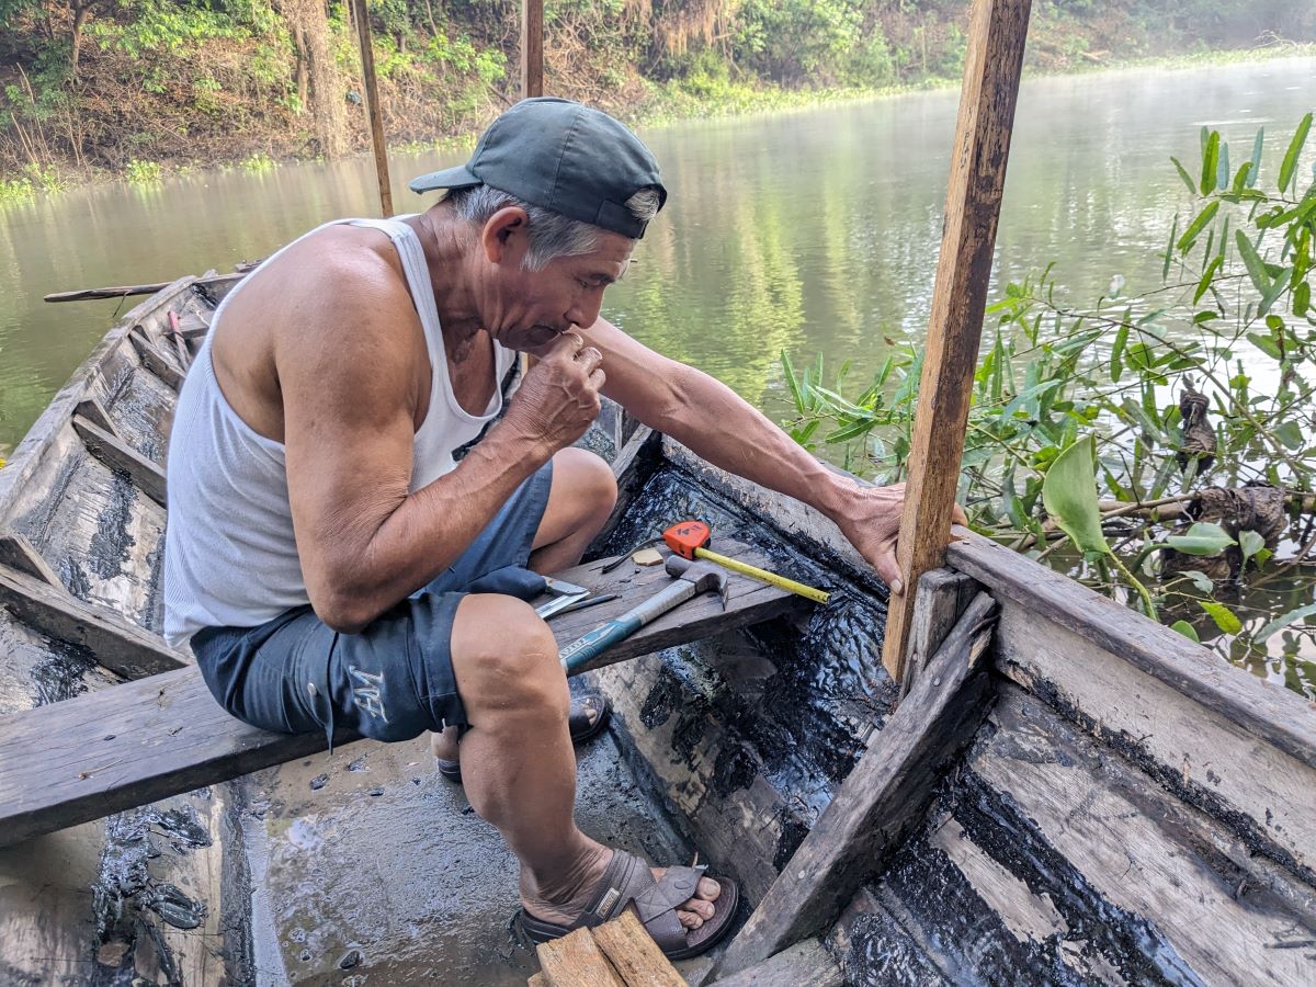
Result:
<svg viewBox="0 0 1316 987"><path fill-rule="evenodd" d="M632 240L640 240L647 224L634 217L626 200L653 188L659 209L667 201L658 162L625 125L551 97L521 100L490 124L468 162L421 175L411 190L480 184Z"/></svg>

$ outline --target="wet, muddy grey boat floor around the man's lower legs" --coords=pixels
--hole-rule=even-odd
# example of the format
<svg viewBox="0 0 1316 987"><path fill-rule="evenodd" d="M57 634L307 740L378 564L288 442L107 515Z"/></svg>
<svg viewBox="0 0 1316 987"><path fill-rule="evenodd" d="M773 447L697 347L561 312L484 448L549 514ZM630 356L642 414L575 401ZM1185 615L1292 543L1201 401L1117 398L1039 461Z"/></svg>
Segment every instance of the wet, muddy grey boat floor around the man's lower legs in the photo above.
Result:
<svg viewBox="0 0 1316 987"><path fill-rule="evenodd" d="M654 865L694 853L637 784L609 732L576 749L576 822ZM517 865L428 734L362 741L253 775L243 842L261 983L524 984L509 929ZM708 959L680 965L687 976Z"/></svg>

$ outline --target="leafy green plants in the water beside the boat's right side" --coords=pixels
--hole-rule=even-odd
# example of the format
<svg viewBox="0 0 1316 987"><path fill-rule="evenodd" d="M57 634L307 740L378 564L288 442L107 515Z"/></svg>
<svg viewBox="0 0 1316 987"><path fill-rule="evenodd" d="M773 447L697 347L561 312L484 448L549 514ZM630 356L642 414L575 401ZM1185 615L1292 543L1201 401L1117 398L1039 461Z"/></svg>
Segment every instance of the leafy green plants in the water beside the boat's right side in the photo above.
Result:
<svg viewBox="0 0 1316 987"><path fill-rule="evenodd" d="M1244 659L1279 633L1296 654L1294 628L1316 615L1311 128L1308 113L1273 174L1265 130L1232 163L1208 128L1199 162L1173 159L1195 209L1170 224L1162 287L1125 299L1116 278L1078 308L1050 268L1005 286L987 308L958 491L976 530ZM796 441L842 449L878 482L905 475L917 350L853 397L844 367L825 383L821 362L782 361ZM1244 586L1280 595L1244 600ZM1290 671L1316 695L1316 666Z"/></svg>

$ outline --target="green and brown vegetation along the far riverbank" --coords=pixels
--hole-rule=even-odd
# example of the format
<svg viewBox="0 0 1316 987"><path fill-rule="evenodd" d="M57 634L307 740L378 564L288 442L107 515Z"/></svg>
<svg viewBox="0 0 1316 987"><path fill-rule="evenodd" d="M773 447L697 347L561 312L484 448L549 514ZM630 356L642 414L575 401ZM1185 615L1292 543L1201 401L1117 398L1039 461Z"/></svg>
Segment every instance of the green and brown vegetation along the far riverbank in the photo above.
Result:
<svg viewBox="0 0 1316 987"><path fill-rule="evenodd" d="M391 141L468 136L515 99L519 11L370 0ZM967 0L549 0L546 86L654 121L937 84L959 76L966 17ZM0 0L0 195L66 180L26 167L263 168L363 149L353 32L343 0ZM1313 36L1311 4L1038 0L1029 66L1286 50Z"/></svg>

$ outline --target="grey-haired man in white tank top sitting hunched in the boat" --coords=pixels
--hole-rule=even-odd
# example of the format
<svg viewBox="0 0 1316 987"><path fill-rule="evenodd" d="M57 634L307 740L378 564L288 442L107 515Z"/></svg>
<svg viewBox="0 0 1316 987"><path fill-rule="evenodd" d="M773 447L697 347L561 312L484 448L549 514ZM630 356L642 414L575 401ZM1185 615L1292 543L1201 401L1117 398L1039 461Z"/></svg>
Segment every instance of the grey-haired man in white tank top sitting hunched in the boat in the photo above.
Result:
<svg viewBox="0 0 1316 987"><path fill-rule="evenodd" d="M669 955L694 955L726 930L736 887L576 829L566 679L516 595L525 566L578 562L612 509L609 468L571 443L607 395L833 519L898 592L900 491L829 472L729 388L599 317L666 199L617 121L526 100L468 164L412 188L447 195L308 233L216 312L170 443L166 633L258 726L434 730L521 862L532 938L633 904ZM517 351L537 362L504 409Z"/></svg>

